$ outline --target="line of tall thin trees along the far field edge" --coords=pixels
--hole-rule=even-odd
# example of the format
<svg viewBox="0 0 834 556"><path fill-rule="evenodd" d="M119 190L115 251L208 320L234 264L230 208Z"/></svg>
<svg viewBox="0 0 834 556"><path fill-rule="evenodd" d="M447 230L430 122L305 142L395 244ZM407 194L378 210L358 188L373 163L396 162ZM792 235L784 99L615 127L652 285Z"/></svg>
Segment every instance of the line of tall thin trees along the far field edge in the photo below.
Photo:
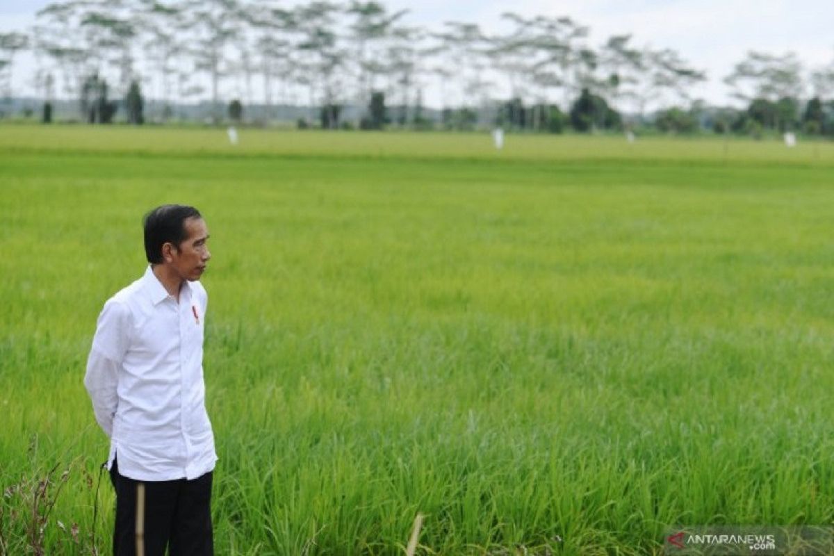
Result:
<svg viewBox="0 0 834 556"><path fill-rule="evenodd" d="M568 17L504 13L505 31L487 33L466 22L421 28L407 15L357 0L292 8L272 0L51 3L32 28L0 34L0 86L13 96L15 58L28 50L38 96L76 98L80 117L93 123L111 121L119 107L142 123L143 98L162 107L158 120L175 103L210 98L214 122L234 100L238 118L259 103L272 119L281 103L308 106L304 125L431 127L423 98L434 88L446 128L558 133L651 121L677 133L705 125L834 133L834 63L806 70L791 53L748 53L724 78L746 108L705 112L691 91L706 72L630 34L592 44L590 28ZM359 109L347 120L349 106Z"/></svg>

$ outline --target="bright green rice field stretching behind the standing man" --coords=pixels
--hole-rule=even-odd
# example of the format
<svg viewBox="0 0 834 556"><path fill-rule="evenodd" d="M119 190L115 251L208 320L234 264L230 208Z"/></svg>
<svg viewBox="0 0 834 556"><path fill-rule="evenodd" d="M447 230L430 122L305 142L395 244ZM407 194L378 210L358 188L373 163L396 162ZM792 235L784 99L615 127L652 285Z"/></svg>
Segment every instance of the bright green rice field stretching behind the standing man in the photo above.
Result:
<svg viewBox="0 0 834 556"><path fill-rule="evenodd" d="M109 553L83 374L162 203L211 233L218 554L834 524L834 143L5 125L0 554Z"/></svg>

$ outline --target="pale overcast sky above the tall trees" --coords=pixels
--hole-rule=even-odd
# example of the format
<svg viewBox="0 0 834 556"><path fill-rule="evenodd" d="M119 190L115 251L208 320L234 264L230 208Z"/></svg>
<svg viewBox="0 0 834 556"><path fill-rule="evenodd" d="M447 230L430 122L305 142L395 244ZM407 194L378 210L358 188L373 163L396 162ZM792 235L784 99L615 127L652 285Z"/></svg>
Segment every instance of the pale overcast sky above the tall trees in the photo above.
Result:
<svg viewBox="0 0 834 556"><path fill-rule="evenodd" d="M0 0L0 30L27 28L48 0ZM445 21L502 28L501 13L568 15L590 27L592 43L632 33L636 44L674 48L709 81L694 96L728 100L721 78L748 50L795 52L806 67L834 61L834 0L387 0L409 9L406 21L438 28ZM26 73L15 68L18 88ZM31 59L29 60L31 63ZM428 99L430 101L430 99ZM431 102L430 102L431 103Z"/></svg>

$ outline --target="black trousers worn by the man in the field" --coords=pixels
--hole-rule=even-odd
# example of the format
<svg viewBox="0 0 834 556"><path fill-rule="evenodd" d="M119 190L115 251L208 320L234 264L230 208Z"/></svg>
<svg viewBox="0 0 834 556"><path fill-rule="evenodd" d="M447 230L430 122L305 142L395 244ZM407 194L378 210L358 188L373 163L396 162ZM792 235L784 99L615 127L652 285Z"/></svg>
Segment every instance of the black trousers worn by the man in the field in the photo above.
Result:
<svg viewBox="0 0 834 556"><path fill-rule="evenodd" d="M114 556L212 556L212 472L193 480L136 481L118 473L113 461L110 481L116 490Z"/></svg>

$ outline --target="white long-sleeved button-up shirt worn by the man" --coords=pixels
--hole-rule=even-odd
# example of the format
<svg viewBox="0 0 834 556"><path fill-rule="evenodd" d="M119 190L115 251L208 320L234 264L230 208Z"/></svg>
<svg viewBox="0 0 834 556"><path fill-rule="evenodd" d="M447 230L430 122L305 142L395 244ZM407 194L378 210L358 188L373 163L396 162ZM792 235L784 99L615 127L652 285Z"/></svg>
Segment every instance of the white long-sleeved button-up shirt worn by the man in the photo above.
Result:
<svg viewBox="0 0 834 556"><path fill-rule="evenodd" d="M110 437L108 468L140 481L214 469L205 409L203 327L208 294L183 283L179 303L148 270L104 303L84 386Z"/></svg>

